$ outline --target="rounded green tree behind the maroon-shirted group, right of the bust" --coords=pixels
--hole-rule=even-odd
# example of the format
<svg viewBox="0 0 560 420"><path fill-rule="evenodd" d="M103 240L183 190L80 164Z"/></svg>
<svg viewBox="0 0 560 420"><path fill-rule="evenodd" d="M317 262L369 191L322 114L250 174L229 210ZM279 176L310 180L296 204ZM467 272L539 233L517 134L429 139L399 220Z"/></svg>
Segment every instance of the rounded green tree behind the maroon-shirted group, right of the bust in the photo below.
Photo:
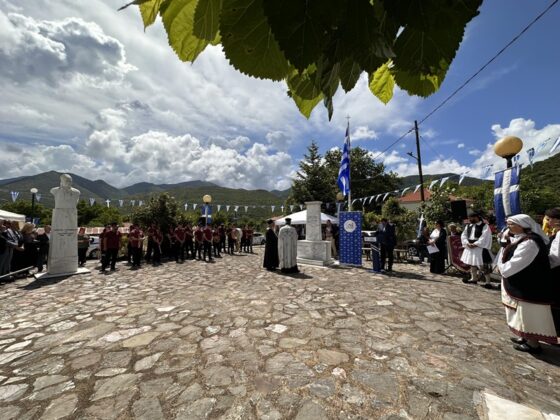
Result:
<svg viewBox="0 0 560 420"><path fill-rule="evenodd" d="M132 213L132 221L141 226L156 223L163 231L167 232L171 226L177 224L179 206L175 199L167 193L152 197L145 206L137 207Z"/></svg>

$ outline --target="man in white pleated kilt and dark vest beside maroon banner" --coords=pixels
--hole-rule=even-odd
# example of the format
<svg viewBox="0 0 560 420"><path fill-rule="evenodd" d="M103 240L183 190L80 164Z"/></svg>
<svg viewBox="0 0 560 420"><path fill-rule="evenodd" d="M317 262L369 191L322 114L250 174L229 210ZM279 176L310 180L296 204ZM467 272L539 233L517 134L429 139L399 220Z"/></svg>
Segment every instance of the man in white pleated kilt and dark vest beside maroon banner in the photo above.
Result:
<svg viewBox="0 0 560 420"><path fill-rule="evenodd" d="M461 255L461 261L470 266L471 278L463 279L463 283L478 282L478 278L483 276L483 287L491 289L490 272L492 271L492 232L490 227L482 221L479 212L469 211L469 224L461 234L461 243L465 248Z"/></svg>

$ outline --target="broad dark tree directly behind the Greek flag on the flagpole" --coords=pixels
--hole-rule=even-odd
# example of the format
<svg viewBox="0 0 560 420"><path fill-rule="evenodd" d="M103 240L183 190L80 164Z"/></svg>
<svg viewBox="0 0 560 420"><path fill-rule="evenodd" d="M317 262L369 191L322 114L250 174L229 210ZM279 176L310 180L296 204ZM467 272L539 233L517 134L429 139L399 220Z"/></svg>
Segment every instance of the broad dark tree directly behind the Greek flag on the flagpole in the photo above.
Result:
<svg viewBox="0 0 560 420"><path fill-rule="evenodd" d="M333 198L338 192L336 181L342 151L339 149L329 150L325 154L325 166L328 177L333 186ZM350 150L350 189L352 197L369 197L399 187L399 180L395 173L386 173L383 163L376 163L371 158L371 152L361 147L353 147ZM368 209L380 211L379 203L372 202L364 205Z"/></svg>

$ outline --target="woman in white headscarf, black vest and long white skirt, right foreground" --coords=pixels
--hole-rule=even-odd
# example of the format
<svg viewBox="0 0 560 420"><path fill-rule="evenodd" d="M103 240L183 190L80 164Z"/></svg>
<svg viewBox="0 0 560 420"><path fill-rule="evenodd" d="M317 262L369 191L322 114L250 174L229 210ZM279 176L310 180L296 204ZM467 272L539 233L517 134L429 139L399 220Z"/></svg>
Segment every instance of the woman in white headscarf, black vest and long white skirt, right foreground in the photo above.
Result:
<svg viewBox="0 0 560 420"><path fill-rule="evenodd" d="M507 219L510 244L498 256L502 275L502 303L513 334L513 348L542 351L539 341L559 343L560 293L548 259L548 237L528 215Z"/></svg>

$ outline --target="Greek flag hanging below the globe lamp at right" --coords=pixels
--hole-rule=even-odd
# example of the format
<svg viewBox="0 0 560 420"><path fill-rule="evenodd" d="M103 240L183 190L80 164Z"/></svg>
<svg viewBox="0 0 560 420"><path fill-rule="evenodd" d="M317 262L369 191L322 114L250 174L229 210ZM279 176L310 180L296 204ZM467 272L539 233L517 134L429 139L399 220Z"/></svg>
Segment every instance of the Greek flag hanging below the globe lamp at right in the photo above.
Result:
<svg viewBox="0 0 560 420"><path fill-rule="evenodd" d="M506 226L506 218L521 213L520 173L515 168L496 172L494 180L494 212L498 230Z"/></svg>

